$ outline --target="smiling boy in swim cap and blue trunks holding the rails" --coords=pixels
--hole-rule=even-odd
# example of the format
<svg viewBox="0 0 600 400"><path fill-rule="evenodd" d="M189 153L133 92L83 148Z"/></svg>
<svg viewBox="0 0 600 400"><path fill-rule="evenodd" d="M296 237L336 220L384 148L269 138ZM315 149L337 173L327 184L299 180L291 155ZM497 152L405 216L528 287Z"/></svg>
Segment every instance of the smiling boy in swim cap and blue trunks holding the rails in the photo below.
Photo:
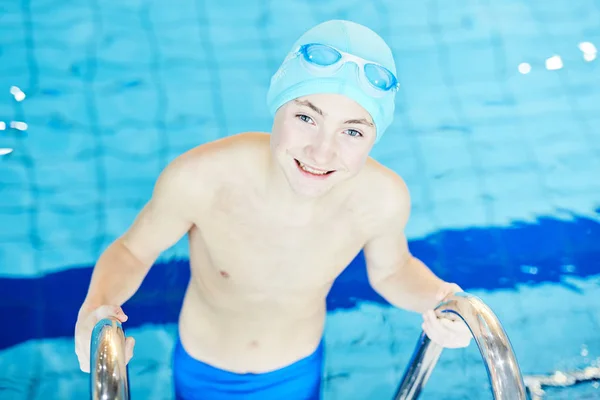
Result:
<svg viewBox="0 0 600 400"><path fill-rule="evenodd" d="M271 134L234 135L175 159L99 258L76 325L81 369L94 324L126 321L120 306L186 234L178 399L318 399L325 299L361 249L382 297L422 313L442 346L467 346L466 326L432 311L460 288L411 256L406 185L369 158L392 122L395 75L391 50L364 26L334 20L306 32L271 80ZM133 345L127 338L127 361Z"/></svg>

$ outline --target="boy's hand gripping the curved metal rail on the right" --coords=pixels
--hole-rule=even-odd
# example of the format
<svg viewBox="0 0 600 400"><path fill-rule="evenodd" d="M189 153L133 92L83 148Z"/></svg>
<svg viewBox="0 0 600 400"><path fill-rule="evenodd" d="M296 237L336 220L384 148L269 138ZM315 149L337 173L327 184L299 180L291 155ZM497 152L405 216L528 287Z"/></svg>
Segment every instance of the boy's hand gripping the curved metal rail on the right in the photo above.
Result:
<svg viewBox="0 0 600 400"><path fill-rule="evenodd" d="M440 288L436 300L439 303L447 296L462 291L460 286L446 283ZM462 319L453 314L438 317L434 310L423 313L422 328L431 341L451 349L467 347L473 338L467 324Z"/></svg>

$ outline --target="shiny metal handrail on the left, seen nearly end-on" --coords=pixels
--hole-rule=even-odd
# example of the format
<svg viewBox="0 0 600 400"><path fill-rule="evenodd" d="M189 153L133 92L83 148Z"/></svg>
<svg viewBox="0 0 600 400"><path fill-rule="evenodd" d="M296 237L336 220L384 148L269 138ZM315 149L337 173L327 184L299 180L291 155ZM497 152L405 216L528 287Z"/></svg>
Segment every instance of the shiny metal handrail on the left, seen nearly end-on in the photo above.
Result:
<svg viewBox="0 0 600 400"><path fill-rule="evenodd" d="M116 319L102 319L92 332L90 386L92 400L129 400L125 333Z"/></svg>

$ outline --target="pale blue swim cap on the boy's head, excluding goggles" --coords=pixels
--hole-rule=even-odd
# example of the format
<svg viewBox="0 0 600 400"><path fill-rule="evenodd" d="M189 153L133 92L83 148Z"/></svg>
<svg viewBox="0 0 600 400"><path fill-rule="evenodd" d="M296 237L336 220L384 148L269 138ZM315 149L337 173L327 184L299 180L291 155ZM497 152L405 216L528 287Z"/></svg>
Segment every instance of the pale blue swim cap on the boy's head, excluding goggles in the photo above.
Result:
<svg viewBox="0 0 600 400"><path fill-rule="evenodd" d="M379 64L389 70L395 79L396 64L392 51L385 41L371 29L355 22L331 20L308 30L294 43L288 56L271 78L267 94L267 106L271 115L282 105L298 97L310 94L335 93L351 98L360 104L373 118L377 131L376 142L392 123L396 89L380 91L373 95L365 90L365 82L359 78L355 63L348 62L335 73L323 76L307 69L298 50L307 44L323 44L340 52L348 53Z"/></svg>

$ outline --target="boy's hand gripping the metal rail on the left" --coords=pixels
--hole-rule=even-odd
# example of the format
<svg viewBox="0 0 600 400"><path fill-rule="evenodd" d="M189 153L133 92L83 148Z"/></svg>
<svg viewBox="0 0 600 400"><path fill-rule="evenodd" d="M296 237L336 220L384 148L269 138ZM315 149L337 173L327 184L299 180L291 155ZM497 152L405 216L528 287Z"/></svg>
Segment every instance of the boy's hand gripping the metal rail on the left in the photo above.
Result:
<svg viewBox="0 0 600 400"><path fill-rule="evenodd" d="M83 372L90 372L90 345L92 342L92 331L96 324L104 318L116 318L121 323L127 321L125 315L119 306L100 306L96 309L87 309L82 307L75 324L75 354L79 360L79 368ZM125 339L125 363L129 363L133 357L133 346L135 339L128 337Z"/></svg>

